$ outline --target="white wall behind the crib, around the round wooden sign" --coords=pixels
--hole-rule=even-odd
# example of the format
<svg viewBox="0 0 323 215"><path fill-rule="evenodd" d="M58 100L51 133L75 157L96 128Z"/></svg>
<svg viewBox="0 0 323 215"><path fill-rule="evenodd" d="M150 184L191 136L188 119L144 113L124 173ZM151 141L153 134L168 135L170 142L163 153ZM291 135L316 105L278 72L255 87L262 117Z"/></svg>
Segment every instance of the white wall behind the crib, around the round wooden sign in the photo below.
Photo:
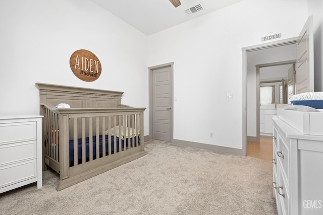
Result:
<svg viewBox="0 0 323 215"><path fill-rule="evenodd" d="M36 82L123 91L123 104L148 106L147 36L93 2L1 1L0 26L0 115L39 114ZM96 81L72 73L78 49L100 60Z"/></svg>

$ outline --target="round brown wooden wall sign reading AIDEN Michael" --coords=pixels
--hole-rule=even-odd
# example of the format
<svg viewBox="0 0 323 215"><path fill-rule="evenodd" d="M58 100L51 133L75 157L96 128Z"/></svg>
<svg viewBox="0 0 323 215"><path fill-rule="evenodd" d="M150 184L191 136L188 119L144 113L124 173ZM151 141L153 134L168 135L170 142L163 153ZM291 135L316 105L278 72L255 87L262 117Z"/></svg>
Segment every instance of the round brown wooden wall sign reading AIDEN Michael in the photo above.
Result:
<svg viewBox="0 0 323 215"><path fill-rule="evenodd" d="M74 75L85 82L93 82L101 75L99 59L85 49L77 50L71 55L70 66Z"/></svg>

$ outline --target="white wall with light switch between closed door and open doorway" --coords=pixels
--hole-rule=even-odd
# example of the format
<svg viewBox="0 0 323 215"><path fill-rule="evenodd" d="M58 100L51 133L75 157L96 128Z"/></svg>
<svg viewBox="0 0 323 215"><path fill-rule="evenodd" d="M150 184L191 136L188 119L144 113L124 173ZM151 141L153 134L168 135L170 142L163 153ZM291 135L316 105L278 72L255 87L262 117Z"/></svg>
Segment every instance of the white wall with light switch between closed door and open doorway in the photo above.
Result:
<svg viewBox="0 0 323 215"><path fill-rule="evenodd" d="M148 66L174 61L174 138L242 149L242 47L306 19L305 0L245 0L149 36Z"/></svg>

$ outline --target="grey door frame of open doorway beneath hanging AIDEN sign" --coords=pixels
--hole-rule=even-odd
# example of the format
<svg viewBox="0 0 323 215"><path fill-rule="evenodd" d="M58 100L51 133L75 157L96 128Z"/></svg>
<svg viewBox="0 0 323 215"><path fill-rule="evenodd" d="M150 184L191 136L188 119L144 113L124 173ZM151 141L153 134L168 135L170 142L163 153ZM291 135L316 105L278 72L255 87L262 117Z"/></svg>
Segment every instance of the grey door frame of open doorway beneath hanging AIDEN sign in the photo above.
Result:
<svg viewBox="0 0 323 215"><path fill-rule="evenodd" d="M242 152L247 156L247 52L295 43L298 37L257 44L242 48Z"/></svg>

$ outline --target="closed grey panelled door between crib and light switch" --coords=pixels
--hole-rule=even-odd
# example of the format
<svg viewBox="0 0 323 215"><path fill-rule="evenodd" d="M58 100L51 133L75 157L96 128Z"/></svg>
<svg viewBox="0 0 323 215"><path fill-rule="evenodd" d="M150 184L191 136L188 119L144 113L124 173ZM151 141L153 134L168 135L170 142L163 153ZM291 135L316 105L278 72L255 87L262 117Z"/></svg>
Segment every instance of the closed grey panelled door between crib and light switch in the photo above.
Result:
<svg viewBox="0 0 323 215"><path fill-rule="evenodd" d="M172 138L172 75L171 66L152 70L152 138Z"/></svg>

